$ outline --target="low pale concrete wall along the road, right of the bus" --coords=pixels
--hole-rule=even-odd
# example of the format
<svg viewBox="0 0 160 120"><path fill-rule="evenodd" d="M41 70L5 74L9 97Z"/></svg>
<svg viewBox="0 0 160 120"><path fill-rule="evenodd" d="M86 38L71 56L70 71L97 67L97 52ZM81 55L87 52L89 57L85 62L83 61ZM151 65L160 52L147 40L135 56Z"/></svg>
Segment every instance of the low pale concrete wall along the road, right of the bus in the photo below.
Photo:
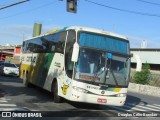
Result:
<svg viewBox="0 0 160 120"><path fill-rule="evenodd" d="M151 95L151 96L160 96L160 88L149 86L149 85L141 85L136 83L129 83L128 91L141 93L145 95Z"/></svg>

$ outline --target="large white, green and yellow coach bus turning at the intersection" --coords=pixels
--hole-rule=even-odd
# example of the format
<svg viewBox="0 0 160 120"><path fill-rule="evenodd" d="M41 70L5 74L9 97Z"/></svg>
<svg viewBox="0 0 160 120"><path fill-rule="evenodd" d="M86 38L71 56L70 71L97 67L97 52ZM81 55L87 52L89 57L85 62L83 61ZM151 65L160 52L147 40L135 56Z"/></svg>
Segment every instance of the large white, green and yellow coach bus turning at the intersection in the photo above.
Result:
<svg viewBox="0 0 160 120"><path fill-rule="evenodd" d="M54 102L122 106L130 79L126 37L87 28L65 27L23 42L23 83L53 93Z"/></svg>

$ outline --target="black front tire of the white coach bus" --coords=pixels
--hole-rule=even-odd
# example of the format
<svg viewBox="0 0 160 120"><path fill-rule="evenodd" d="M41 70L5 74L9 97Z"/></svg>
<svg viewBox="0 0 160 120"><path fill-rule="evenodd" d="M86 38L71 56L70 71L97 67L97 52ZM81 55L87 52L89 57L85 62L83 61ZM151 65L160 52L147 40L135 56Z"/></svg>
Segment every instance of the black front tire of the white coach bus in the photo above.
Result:
<svg viewBox="0 0 160 120"><path fill-rule="evenodd" d="M53 92L53 101L55 103L61 103L62 98L58 95L58 84L57 84L57 82L54 82L52 84L52 92Z"/></svg>

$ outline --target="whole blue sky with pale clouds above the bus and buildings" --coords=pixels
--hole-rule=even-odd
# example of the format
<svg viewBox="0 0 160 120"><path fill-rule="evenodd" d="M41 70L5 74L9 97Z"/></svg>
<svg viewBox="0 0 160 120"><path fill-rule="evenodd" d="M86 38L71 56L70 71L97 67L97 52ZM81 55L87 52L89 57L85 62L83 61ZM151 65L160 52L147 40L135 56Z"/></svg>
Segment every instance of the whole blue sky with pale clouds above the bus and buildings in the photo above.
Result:
<svg viewBox="0 0 160 120"><path fill-rule="evenodd" d="M0 8L21 0L0 0ZM22 44L34 23L42 32L85 26L128 37L131 48L160 48L160 0L78 0L77 13L66 11L66 0L30 0L0 9L0 45Z"/></svg>

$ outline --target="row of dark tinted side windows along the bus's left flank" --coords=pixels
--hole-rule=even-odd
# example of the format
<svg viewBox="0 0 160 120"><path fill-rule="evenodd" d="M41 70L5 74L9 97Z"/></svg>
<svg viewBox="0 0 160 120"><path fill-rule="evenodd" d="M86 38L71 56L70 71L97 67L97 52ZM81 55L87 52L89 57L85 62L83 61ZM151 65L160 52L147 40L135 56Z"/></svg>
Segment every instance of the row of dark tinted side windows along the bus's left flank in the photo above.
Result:
<svg viewBox="0 0 160 120"><path fill-rule="evenodd" d="M59 32L25 41L23 51L26 53L45 53L64 51L66 32Z"/></svg>

